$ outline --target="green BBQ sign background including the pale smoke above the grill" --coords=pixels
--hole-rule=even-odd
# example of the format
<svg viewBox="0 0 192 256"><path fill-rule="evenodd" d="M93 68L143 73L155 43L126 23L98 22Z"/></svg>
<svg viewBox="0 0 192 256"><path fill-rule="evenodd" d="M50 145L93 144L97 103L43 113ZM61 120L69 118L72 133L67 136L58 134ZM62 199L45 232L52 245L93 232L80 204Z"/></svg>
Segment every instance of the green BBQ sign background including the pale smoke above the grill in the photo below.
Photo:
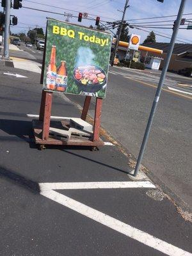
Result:
<svg viewBox="0 0 192 256"><path fill-rule="evenodd" d="M70 32L70 36L55 34L53 33L53 26L58 26L60 29L65 28L67 31L72 30L74 33ZM84 35L89 37L95 36L95 38L100 38L100 40L102 39L102 42L106 42L106 44L102 46L100 44L96 44L96 42L87 41L87 36L86 40L84 40L83 36L82 40L80 40L80 35L78 32L82 32ZM104 41L106 39L108 40ZM97 43L98 42L99 41L97 40ZM105 72L107 79L109 56L111 53L111 35L103 31L84 28L83 26L68 24L67 22L61 22L59 20L48 19L44 64L44 90L46 90L46 73L50 61L52 45L56 45L56 67L60 67L61 60L66 61L68 77L67 90L64 93L72 93L77 95L82 93L82 88L79 88L74 79L74 68L78 67L79 65L95 65ZM102 87L97 92L96 96L102 98L106 97L106 86Z"/></svg>

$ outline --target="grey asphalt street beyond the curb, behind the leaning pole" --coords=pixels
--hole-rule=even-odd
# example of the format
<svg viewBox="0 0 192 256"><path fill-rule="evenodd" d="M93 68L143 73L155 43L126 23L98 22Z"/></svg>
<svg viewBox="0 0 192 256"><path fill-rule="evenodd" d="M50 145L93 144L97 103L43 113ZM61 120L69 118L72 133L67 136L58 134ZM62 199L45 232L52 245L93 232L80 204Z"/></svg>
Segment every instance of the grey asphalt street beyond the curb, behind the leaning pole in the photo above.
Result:
<svg viewBox="0 0 192 256"><path fill-rule="evenodd" d="M43 51L19 47L41 63ZM110 67L103 100L102 126L134 157L141 141L161 72ZM168 73L143 158L148 175L175 199L192 209L191 200L191 78ZM67 95L83 106L84 97ZM93 116L95 100L90 106Z"/></svg>

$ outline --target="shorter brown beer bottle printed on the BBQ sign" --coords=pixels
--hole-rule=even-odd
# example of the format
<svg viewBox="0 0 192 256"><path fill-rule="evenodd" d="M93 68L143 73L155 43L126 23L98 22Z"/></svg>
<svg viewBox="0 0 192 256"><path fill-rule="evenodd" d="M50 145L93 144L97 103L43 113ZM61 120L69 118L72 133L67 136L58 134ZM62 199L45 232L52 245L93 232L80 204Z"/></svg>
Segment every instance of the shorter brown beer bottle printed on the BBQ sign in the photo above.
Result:
<svg viewBox="0 0 192 256"><path fill-rule="evenodd" d="M58 73L56 75L56 91L65 92L67 88L67 67L66 62L61 61L61 65L58 68Z"/></svg>

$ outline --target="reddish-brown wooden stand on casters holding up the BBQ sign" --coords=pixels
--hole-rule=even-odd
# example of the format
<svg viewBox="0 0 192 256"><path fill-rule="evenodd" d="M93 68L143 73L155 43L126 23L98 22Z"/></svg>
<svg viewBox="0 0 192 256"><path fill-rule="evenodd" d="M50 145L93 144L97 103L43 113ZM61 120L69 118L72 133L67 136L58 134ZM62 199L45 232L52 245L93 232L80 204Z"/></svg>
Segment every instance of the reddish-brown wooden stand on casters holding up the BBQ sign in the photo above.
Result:
<svg viewBox="0 0 192 256"><path fill-rule="evenodd" d="M92 97L86 96L84 100L83 111L81 114L81 119L86 120L88 114L88 109L90 107L90 101ZM44 147L44 145L79 145L79 146L91 146L97 147L104 145L104 141L99 138L100 129L100 115L102 108L102 99L96 99L95 106L95 118L93 124L93 136L89 140L83 140L83 138L78 138L76 136L71 136L70 140L57 140L49 136L49 128L51 123L51 107L52 107L52 92L42 91L42 100L40 105L40 115L38 120L33 120L33 131L35 136L35 143ZM69 120L61 121L61 125L67 127L69 125Z"/></svg>

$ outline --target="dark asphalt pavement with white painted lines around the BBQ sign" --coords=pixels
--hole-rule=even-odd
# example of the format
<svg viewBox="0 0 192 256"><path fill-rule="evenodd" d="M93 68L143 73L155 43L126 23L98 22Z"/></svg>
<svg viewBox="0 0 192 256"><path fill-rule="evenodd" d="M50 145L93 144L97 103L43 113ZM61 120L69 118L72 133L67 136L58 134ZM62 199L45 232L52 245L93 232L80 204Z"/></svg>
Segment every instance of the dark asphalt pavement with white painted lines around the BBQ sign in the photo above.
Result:
<svg viewBox="0 0 192 256"><path fill-rule="evenodd" d="M38 150L27 114L40 108L40 74L0 73L0 255L191 255L191 222L156 184L129 179L118 148ZM54 94L52 115L81 113Z"/></svg>

